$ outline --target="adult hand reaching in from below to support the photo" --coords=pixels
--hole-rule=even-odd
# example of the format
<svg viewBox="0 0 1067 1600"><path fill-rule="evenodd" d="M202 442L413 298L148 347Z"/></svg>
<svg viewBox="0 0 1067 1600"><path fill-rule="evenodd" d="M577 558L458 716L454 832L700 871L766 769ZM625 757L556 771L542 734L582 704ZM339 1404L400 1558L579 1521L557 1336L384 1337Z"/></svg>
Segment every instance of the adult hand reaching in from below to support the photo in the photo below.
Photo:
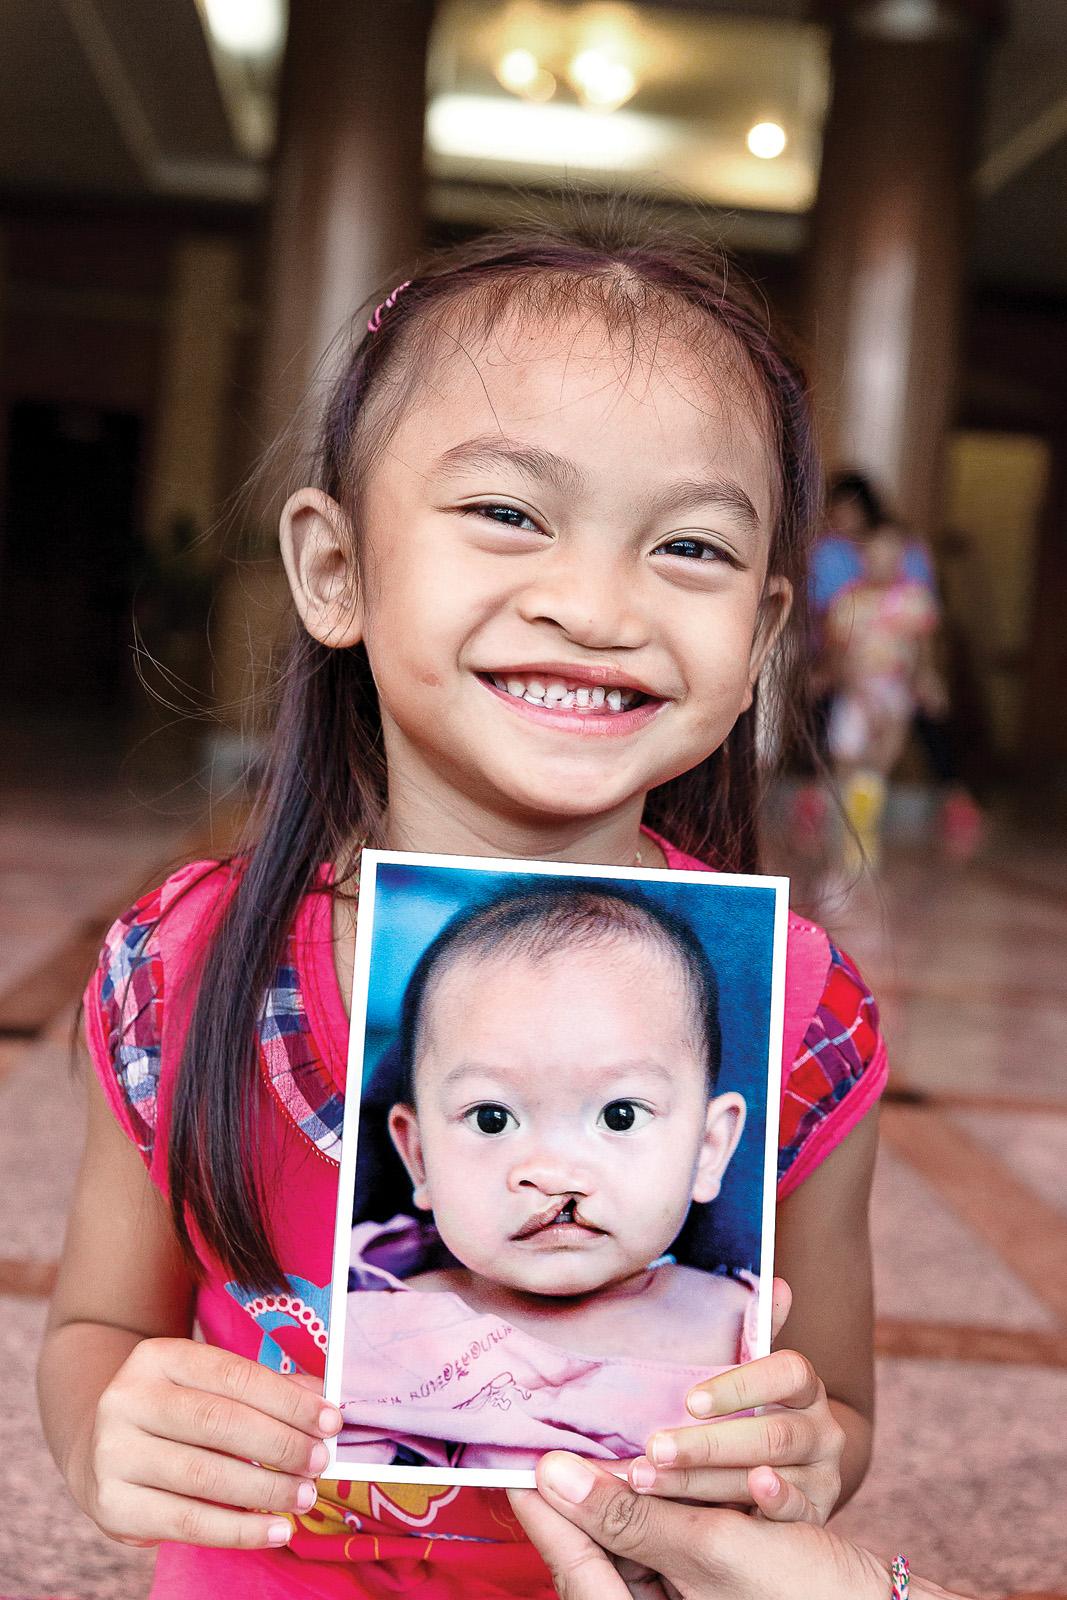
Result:
<svg viewBox="0 0 1067 1600"><path fill-rule="evenodd" d="M888 1600L886 1566L811 1523L635 1494L563 1451L539 1462L537 1490L510 1501L560 1600Z"/></svg>

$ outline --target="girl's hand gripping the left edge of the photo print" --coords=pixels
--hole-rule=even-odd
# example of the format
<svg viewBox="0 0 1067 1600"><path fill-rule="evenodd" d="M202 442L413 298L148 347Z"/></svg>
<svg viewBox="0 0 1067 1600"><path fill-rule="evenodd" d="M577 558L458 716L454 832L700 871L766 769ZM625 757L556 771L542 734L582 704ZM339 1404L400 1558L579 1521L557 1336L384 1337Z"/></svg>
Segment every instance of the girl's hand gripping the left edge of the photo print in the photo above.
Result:
<svg viewBox="0 0 1067 1600"><path fill-rule="evenodd" d="M339 1427L306 1379L192 1339L142 1339L99 1398L74 1486L120 1544L282 1546L293 1523L278 1512L315 1502L323 1437Z"/></svg>

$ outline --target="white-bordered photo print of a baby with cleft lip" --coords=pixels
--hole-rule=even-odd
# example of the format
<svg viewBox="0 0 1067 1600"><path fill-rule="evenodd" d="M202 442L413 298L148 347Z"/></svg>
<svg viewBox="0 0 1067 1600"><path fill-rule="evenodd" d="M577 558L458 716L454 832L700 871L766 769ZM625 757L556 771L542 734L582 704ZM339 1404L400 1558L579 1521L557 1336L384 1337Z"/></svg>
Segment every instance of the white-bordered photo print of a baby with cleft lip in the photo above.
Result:
<svg viewBox="0 0 1067 1600"><path fill-rule="evenodd" d="M632 1458L768 1354L785 915L782 878L363 853L328 1477Z"/></svg>

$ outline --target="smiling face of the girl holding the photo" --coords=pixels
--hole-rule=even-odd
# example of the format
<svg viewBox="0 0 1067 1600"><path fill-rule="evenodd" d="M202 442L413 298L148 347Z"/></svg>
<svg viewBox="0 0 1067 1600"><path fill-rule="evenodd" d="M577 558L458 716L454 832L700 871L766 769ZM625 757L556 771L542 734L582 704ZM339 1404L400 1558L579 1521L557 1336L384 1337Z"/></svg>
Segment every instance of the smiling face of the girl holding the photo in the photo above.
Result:
<svg viewBox="0 0 1067 1600"><path fill-rule="evenodd" d="M766 584L765 429L725 344L721 387L707 365L667 336L632 357L592 317L499 328L413 378L355 611L309 622L366 643L390 803L606 816L723 742L787 584Z"/></svg>

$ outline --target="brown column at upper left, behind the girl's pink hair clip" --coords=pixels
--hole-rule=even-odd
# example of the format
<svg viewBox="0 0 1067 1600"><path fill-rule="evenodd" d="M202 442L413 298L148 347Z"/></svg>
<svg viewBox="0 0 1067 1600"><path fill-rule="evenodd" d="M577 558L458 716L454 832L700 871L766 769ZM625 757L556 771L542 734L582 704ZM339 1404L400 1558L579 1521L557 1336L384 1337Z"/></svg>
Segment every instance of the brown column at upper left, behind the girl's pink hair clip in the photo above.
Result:
<svg viewBox="0 0 1067 1600"><path fill-rule="evenodd" d="M216 765L262 739L261 686L290 627L278 510L304 475L344 330L424 237L422 128L434 0L291 0L262 274L256 453L242 563L219 597ZM334 347L334 341L338 341Z"/></svg>

